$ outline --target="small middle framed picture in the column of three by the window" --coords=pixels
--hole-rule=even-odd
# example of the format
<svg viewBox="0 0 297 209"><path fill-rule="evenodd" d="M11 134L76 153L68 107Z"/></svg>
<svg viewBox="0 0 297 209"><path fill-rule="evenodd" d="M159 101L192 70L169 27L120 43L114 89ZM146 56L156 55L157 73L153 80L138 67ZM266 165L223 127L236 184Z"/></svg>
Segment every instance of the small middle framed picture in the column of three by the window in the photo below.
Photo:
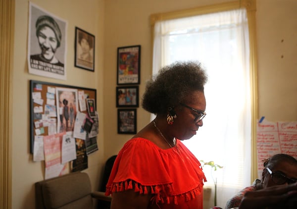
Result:
<svg viewBox="0 0 297 209"><path fill-rule="evenodd" d="M116 87L116 107L138 107L138 86Z"/></svg>

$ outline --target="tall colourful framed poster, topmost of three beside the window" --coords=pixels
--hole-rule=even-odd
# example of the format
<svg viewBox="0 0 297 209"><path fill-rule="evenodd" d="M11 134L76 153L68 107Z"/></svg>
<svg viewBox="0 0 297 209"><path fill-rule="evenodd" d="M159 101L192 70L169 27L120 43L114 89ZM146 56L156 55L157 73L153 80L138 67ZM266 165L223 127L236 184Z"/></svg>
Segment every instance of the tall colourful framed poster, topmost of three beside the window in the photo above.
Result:
<svg viewBox="0 0 297 209"><path fill-rule="evenodd" d="M117 84L140 84L140 45L117 49Z"/></svg>

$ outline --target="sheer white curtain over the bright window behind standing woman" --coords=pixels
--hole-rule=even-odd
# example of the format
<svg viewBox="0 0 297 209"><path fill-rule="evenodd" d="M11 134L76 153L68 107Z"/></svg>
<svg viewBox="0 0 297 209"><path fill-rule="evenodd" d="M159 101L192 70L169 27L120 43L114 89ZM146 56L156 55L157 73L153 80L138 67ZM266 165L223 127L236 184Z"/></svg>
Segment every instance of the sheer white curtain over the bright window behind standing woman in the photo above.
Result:
<svg viewBox="0 0 297 209"><path fill-rule="evenodd" d="M246 9L158 21L154 26L153 74L177 60L198 60L208 74L207 115L197 135L183 143L199 160L223 166L212 172L217 176L217 206L222 208L250 185L248 40ZM214 185L210 168L203 168L206 187Z"/></svg>

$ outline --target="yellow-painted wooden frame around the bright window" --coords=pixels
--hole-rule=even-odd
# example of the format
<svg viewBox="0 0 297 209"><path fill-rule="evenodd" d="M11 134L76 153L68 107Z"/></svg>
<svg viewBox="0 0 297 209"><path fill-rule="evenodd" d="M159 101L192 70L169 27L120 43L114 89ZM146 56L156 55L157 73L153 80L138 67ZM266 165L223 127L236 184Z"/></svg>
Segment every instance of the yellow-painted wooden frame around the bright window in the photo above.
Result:
<svg viewBox="0 0 297 209"><path fill-rule="evenodd" d="M154 25L157 21L171 20L201 14L228 11L238 8L246 8L249 31L249 65L250 65L250 92L251 92L251 175L250 182L257 178L257 152L256 152L256 127L258 118L258 86L257 86L257 47L256 47L256 0L237 0L219 4L199 6L196 8L183 9L150 15L151 26L151 49L153 49ZM151 50L153 52L153 50ZM151 59L153 54L151 55ZM152 60L151 60L152 63Z"/></svg>

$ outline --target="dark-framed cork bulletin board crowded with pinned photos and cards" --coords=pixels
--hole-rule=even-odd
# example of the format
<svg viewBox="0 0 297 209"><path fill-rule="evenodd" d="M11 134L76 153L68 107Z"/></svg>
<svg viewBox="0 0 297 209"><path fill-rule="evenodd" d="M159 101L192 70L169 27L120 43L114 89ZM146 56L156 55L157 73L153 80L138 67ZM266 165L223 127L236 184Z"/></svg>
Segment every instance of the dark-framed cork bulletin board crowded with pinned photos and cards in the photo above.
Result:
<svg viewBox="0 0 297 209"><path fill-rule="evenodd" d="M77 112L92 115L97 109L96 94L96 89L30 80L30 153L35 136L71 131ZM67 115L61 115L64 106L69 108Z"/></svg>

